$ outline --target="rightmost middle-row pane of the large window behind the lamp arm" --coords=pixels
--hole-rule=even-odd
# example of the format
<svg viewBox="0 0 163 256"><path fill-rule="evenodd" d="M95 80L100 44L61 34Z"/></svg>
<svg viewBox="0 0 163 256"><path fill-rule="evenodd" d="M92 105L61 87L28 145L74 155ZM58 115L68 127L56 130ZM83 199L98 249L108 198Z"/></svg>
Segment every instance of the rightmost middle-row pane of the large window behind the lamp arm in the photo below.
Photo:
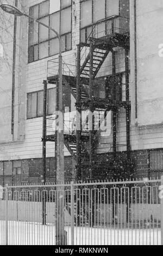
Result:
<svg viewBox="0 0 163 256"><path fill-rule="evenodd" d="M60 33L71 32L71 7L61 11Z"/></svg>

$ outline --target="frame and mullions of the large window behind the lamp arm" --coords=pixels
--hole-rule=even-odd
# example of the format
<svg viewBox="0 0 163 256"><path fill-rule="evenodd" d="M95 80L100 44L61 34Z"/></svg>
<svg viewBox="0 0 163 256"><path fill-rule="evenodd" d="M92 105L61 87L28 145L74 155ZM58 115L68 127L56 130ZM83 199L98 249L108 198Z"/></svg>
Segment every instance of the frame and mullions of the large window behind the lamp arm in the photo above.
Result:
<svg viewBox="0 0 163 256"><path fill-rule="evenodd" d="M72 0L71 0L71 5L68 5L68 6L65 7L65 8L61 8L61 6L60 6L60 10L54 11L54 13L51 13L51 14L48 13L48 15L45 15L45 16L40 17L40 4L42 4L42 3L44 3L44 2L49 2L49 0L45 0L45 1L41 2L41 3L39 3L39 4L32 5L32 6L29 8L29 15L30 15L30 9L36 7L37 5L39 5L39 18L38 18L37 20L41 20L41 19L43 19L43 18L48 17L48 18L49 18L49 19L48 19L48 23L49 23L49 25L50 25L50 17L51 17L51 15L53 15L53 14L55 14L55 13L60 13L60 22L59 22L59 29L60 29L60 30L61 30L61 11L62 11L62 10L65 10L65 9L67 9L67 8L71 8L71 31L70 31L70 32L67 32L67 33L65 33L65 34L60 34L60 36L65 36L65 50L62 51L62 52L71 51L71 50L72 50ZM50 3L49 3L49 12L50 12ZM32 21L32 22L33 22L33 21ZM41 42L39 42L39 31L40 31L40 26L41 26L41 25L39 25L39 28L38 28L38 42L37 42L37 44L29 45L29 41L30 41L30 40L29 40L29 39L30 39L30 23L32 23L32 22L30 22L30 20L29 20L29 25L28 25L28 64L33 63L33 62L36 62L36 61L41 60L41 59L46 59L46 58L49 58L49 57L52 57L52 56L55 56L55 55L59 54L59 52L58 52L58 53L55 53L55 54L50 54L50 41L53 40L53 39L58 38L57 35L54 35L52 38L50 37L50 29L48 30L48 39L47 39L47 40L42 40ZM60 33L60 32L59 32L59 33ZM67 50L67 47L66 47L66 40L67 40L68 34L71 34L71 48ZM43 57L43 58L39 58L39 46L40 46L40 44L43 44L43 43L45 43L45 42L48 42L48 56L47 56L47 57ZM37 51L38 51L38 52L37 52L37 59L35 59L35 56L34 56L34 52L35 52L35 51L34 51L34 47L36 47L36 46L37 46L37 48L38 48L38 50L37 50ZM31 49L32 52L33 52L33 54L32 54L32 57L33 57L33 58L32 58L32 60L29 61L29 59L31 58L31 57L29 56L30 49Z"/></svg>

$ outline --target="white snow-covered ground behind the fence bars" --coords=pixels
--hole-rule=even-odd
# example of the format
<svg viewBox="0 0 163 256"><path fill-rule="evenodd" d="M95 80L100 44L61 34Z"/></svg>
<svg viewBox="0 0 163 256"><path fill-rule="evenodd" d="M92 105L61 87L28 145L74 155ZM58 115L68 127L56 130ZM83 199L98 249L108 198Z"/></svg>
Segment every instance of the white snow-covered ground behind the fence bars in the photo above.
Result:
<svg viewBox="0 0 163 256"><path fill-rule="evenodd" d="M8 222L9 245L55 245L55 226ZM66 227L71 245L71 227ZM5 244L5 222L0 221L0 245ZM160 229L74 228L74 245L160 245Z"/></svg>

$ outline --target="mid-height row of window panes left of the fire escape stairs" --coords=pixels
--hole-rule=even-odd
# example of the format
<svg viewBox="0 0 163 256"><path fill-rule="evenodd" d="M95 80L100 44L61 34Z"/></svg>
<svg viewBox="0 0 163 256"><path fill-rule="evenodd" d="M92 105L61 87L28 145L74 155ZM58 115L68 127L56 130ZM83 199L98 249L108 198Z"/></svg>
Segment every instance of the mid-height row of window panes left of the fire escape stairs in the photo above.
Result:
<svg viewBox="0 0 163 256"><path fill-rule="evenodd" d="M56 89L48 89L47 114L55 112ZM27 94L27 119L42 117L43 115L43 90Z"/></svg>

